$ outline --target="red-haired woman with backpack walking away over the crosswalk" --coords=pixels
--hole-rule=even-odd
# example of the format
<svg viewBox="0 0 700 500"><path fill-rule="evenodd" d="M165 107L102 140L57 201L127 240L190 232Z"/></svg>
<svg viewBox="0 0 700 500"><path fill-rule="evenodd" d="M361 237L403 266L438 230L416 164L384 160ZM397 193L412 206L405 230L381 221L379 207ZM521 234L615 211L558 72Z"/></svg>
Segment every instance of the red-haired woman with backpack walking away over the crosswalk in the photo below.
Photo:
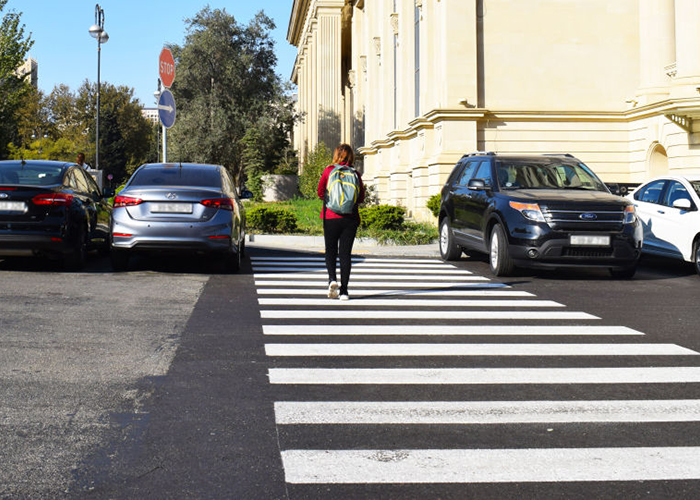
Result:
<svg viewBox="0 0 700 500"><path fill-rule="evenodd" d="M365 199L365 186L362 177L353 169L355 153L348 144L341 144L333 152L333 165L328 165L318 183L318 197L323 199L321 219L323 219L323 238L326 243L326 269L328 270L328 297L349 300L348 283L352 266L352 245L355 242L357 228L360 227L358 205ZM354 175L354 177L353 177ZM329 182L330 181L330 182ZM351 184L354 183L354 187ZM338 189L345 189L337 195ZM336 199L350 200L350 208L331 210L337 207ZM350 198L354 196L354 198ZM336 276L336 259L340 260L340 290Z"/></svg>

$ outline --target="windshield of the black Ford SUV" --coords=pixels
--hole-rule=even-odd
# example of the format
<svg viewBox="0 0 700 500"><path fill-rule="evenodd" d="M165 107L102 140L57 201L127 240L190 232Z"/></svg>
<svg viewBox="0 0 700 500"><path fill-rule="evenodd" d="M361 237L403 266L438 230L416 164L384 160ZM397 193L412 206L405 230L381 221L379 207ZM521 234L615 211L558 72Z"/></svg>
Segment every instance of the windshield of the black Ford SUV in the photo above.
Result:
<svg viewBox="0 0 700 500"><path fill-rule="evenodd" d="M560 159L496 161L501 189L585 189L605 191L605 185L583 163Z"/></svg>

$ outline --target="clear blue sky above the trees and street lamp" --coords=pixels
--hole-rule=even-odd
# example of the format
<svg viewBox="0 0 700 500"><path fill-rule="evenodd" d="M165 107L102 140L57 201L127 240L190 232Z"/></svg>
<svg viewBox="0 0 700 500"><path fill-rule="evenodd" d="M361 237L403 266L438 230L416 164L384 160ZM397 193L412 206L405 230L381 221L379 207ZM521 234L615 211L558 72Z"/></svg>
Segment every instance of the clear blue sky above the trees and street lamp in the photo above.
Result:
<svg viewBox="0 0 700 500"><path fill-rule="evenodd" d="M289 80L296 47L287 40L292 0L101 0L109 41L102 45L100 80L134 89L141 104L155 106L158 56L166 43L182 44L185 19L204 6L226 9L239 23L260 10L271 17L277 52L277 73ZM3 13L22 13L31 32L31 56L39 64L39 88L47 94L64 83L75 91L87 78L97 80L97 42L88 33L95 23L94 0L9 0ZM175 71L177 80L177 69Z"/></svg>

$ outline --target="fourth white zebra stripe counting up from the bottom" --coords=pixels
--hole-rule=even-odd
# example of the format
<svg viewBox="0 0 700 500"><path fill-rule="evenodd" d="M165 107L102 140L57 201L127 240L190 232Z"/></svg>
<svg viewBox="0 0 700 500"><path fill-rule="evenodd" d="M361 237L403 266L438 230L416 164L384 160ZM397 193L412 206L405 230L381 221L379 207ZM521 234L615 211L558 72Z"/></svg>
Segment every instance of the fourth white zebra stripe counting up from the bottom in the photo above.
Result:
<svg viewBox="0 0 700 500"><path fill-rule="evenodd" d="M691 356L674 344L265 344L268 356Z"/></svg>

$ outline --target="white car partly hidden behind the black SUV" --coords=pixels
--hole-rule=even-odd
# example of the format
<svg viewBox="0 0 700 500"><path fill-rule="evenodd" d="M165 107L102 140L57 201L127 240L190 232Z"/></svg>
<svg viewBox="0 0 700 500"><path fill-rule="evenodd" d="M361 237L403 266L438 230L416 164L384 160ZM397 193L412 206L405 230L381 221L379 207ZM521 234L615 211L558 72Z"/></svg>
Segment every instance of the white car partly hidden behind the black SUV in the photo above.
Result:
<svg viewBox="0 0 700 500"><path fill-rule="evenodd" d="M627 196L644 228L644 253L692 262L700 274L700 176L657 177Z"/></svg>

